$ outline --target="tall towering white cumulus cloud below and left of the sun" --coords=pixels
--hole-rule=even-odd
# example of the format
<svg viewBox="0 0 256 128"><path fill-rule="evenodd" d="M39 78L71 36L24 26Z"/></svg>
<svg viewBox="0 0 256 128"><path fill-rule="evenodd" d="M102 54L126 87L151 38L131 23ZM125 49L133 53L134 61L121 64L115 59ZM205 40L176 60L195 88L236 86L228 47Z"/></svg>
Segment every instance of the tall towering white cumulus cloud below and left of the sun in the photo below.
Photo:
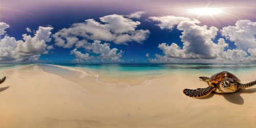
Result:
<svg viewBox="0 0 256 128"><path fill-rule="evenodd" d="M216 27L199 26L198 20L182 21L177 28L182 30L180 36L183 42L183 47L180 48L173 43L168 46L162 43L158 46L163 53L169 57L179 59L214 59L218 57L218 49L220 46L212 42L212 39L217 35L218 29Z"/></svg>

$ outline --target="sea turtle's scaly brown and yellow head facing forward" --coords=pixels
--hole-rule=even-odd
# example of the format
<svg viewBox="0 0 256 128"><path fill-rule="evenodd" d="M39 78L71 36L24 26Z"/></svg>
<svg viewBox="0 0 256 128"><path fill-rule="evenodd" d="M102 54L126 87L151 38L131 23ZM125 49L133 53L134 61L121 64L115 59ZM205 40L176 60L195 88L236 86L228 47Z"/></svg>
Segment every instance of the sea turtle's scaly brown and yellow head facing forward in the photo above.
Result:
<svg viewBox="0 0 256 128"><path fill-rule="evenodd" d="M235 92L237 90L237 81L235 79L225 79L221 81L220 87L223 92Z"/></svg>

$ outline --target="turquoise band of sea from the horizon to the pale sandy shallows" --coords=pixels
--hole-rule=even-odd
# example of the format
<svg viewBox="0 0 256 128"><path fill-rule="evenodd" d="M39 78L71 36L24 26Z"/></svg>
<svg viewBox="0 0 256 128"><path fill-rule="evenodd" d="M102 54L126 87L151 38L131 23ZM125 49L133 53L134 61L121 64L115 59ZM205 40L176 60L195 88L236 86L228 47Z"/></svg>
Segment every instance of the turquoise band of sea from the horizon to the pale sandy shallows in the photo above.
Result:
<svg viewBox="0 0 256 128"><path fill-rule="evenodd" d="M54 64L56 65L56 64ZM256 64L57 64L69 68L95 72L115 78L138 78L186 72L195 75L213 75L221 71L233 74L256 71Z"/></svg>

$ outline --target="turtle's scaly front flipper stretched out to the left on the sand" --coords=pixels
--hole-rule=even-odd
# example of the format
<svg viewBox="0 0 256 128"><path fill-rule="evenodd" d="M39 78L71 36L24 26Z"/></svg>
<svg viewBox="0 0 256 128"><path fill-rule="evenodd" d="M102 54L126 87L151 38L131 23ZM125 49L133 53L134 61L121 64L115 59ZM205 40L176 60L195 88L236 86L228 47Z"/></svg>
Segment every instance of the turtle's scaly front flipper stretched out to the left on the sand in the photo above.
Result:
<svg viewBox="0 0 256 128"><path fill-rule="evenodd" d="M184 89L183 94L193 98L202 98L208 96L211 93L211 91L214 90L215 88L211 86L207 88L198 88L196 90Z"/></svg>

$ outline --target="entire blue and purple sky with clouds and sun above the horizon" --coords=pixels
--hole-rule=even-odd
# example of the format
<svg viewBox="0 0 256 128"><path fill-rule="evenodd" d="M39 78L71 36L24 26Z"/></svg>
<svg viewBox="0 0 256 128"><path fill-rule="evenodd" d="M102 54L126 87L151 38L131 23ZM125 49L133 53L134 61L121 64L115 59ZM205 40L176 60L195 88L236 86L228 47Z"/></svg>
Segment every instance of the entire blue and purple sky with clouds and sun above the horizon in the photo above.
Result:
<svg viewBox="0 0 256 128"><path fill-rule="evenodd" d="M255 63L255 1L2 0L0 63Z"/></svg>

